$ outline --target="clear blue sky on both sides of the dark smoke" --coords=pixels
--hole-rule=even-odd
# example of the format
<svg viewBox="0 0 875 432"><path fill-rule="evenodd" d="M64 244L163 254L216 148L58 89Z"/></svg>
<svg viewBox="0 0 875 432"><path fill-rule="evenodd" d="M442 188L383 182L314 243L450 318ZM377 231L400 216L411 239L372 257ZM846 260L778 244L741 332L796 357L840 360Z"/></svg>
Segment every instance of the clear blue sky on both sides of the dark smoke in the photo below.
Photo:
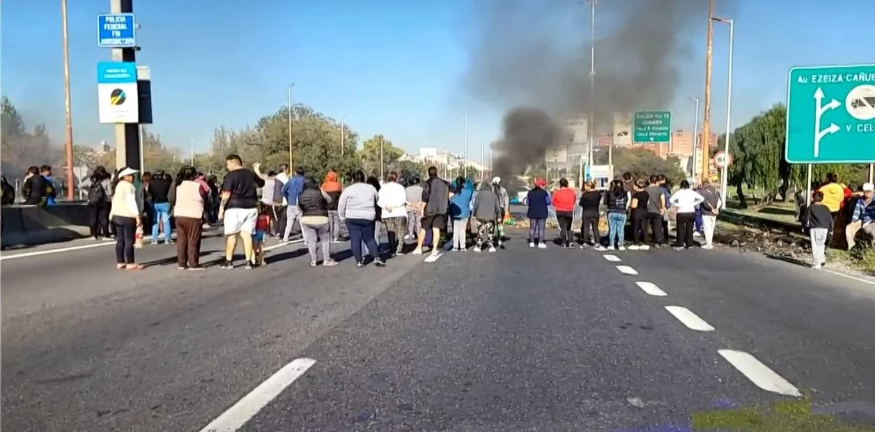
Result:
<svg viewBox="0 0 875 432"><path fill-rule="evenodd" d="M346 116L361 136L381 133L406 150L462 150L468 110L477 158L480 139L500 136L503 110L467 101L459 85L470 42L465 15L476 1L139 0L137 59L151 66L151 129L165 143L187 148L193 139L196 150L207 150L214 128L241 128L274 112L294 82L295 101ZM728 0L717 2L719 12ZM857 24L875 17L872 0L733 3L734 125L785 99L791 66L875 61L875 28L865 19ZM95 84L95 64L110 55L96 46L96 15L109 2L77 0L69 8L74 141L112 143L112 127L97 122ZM26 122L45 122L60 142L59 2L6 0L2 14L0 91ZM703 93L704 17L701 24L676 101L666 107L675 113L675 129L692 129L686 98ZM718 131L725 127L727 33L726 26L715 27L711 115Z"/></svg>

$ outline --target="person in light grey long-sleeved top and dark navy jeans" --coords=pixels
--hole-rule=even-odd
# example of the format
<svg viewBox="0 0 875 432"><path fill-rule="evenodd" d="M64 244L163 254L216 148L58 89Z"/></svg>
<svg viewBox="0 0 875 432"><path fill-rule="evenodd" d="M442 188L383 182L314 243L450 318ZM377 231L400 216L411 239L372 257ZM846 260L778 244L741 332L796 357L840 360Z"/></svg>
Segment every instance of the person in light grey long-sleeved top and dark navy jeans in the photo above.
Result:
<svg viewBox="0 0 875 432"><path fill-rule="evenodd" d="M377 190L365 183L365 173L361 170L353 172L353 184L340 193L337 212L340 220L346 222L349 232L349 246L353 249L356 267L364 267L364 256L361 254L361 243L367 245L367 250L374 257L374 265L385 266L380 256L380 248L374 241L374 220L376 220Z"/></svg>

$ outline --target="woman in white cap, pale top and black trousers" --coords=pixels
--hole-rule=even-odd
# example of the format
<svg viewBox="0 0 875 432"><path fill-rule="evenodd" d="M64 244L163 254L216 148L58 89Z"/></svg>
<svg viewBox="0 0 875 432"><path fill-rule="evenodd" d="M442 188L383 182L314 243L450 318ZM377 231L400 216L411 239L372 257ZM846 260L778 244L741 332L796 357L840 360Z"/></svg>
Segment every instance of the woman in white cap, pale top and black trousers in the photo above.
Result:
<svg viewBox="0 0 875 432"><path fill-rule="evenodd" d="M137 170L124 167L118 172L117 184L112 196L112 206L109 210L109 220L116 226L116 268L141 270L142 264L134 261L134 242L137 240L137 229L142 229L143 207L137 199L137 188L134 187L134 176Z"/></svg>

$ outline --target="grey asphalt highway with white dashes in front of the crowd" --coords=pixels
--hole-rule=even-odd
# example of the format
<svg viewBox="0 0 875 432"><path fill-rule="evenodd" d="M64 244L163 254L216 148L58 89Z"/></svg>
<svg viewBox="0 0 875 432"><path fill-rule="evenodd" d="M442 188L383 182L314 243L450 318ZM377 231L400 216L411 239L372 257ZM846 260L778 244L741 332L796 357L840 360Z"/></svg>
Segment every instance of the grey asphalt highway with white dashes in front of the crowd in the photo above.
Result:
<svg viewBox="0 0 875 432"><path fill-rule="evenodd" d="M202 272L166 246L136 273L111 246L4 254L4 429L690 430L798 394L875 428L865 280L720 248L355 268L334 246L336 268L290 245Z"/></svg>

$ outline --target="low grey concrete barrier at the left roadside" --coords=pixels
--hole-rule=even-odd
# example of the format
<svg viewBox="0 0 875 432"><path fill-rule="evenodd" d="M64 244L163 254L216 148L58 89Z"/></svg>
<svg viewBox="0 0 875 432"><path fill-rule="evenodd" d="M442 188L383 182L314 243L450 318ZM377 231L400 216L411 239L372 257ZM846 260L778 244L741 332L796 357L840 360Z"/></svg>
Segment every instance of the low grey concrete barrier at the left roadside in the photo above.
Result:
<svg viewBox="0 0 875 432"><path fill-rule="evenodd" d="M32 246L88 237L88 206L59 204L50 207L4 206L0 213L3 229L0 245Z"/></svg>

